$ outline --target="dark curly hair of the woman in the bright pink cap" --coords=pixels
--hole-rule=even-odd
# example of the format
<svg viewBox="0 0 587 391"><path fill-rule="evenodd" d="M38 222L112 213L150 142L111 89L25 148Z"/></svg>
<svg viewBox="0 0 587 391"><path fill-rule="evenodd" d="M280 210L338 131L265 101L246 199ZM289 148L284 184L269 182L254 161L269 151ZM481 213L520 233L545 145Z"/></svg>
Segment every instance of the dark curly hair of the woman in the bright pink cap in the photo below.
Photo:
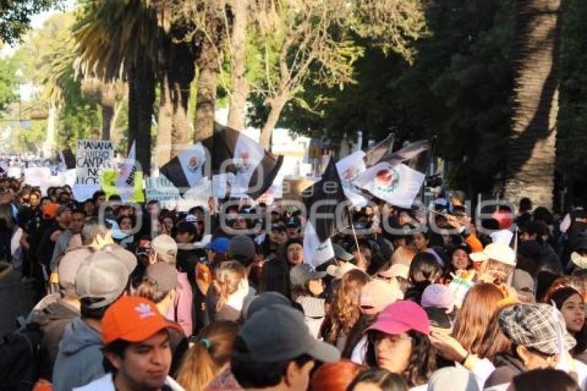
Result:
<svg viewBox="0 0 587 391"><path fill-rule="evenodd" d="M378 331L369 333L371 332ZM412 337L412 352L407 367L400 375L407 381L407 385L413 388L426 384L432 372L436 370L436 347L432 345L426 334L410 330L407 335ZM378 367L373 343L367 343L365 362L369 367Z"/></svg>

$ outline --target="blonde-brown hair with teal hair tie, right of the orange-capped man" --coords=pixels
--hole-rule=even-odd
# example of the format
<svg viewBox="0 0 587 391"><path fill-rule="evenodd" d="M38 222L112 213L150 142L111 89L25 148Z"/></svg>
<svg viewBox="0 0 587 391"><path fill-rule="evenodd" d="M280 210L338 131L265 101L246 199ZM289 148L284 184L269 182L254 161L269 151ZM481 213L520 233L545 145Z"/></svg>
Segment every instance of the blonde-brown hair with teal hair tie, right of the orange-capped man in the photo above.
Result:
<svg viewBox="0 0 587 391"><path fill-rule="evenodd" d="M186 391L201 391L230 362L238 325L218 321L207 325L198 334L195 345L184 354L176 380Z"/></svg>

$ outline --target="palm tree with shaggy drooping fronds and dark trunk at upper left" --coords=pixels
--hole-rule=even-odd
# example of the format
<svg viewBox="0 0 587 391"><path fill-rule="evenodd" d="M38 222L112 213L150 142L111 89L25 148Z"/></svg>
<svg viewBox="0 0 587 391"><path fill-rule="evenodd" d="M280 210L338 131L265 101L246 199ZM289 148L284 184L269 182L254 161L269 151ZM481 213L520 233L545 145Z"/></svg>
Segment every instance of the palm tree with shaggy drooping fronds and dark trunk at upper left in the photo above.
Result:
<svg viewBox="0 0 587 391"><path fill-rule="evenodd" d="M89 1L77 23L77 68L110 82L128 82L128 146L136 143L142 171L151 172L151 123L160 35L157 8L148 0Z"/></svg>

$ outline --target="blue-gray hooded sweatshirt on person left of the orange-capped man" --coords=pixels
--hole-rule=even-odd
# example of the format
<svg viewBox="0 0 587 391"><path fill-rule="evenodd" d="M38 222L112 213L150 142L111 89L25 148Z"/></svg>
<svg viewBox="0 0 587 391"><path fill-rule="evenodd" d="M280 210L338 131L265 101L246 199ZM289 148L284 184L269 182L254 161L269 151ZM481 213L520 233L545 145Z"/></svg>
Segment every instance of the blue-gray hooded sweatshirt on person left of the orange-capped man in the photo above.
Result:
<svg viewBox="0 0 587 391"><path fill-rule="evenodd" d="M75 318L59 343L53 369L53 390L70 391L104 376L102 334Z"/></svg>

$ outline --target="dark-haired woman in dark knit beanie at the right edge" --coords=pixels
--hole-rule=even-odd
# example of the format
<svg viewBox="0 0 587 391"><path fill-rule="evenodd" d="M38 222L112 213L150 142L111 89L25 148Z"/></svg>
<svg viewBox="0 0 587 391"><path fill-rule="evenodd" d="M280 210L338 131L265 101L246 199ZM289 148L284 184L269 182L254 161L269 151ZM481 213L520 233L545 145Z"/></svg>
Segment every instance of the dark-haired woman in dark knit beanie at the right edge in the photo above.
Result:
<svg viewBox="0 0 587 391"><path fill-rule="evenodd" d="M585 324L585 309L583 296L572 287L561 287L551 292L546 303L555 303L555 306L565 318L566 330L575 337L577 345L571 350L571 355L579 361L587 359L587 327Z"/></svg>

